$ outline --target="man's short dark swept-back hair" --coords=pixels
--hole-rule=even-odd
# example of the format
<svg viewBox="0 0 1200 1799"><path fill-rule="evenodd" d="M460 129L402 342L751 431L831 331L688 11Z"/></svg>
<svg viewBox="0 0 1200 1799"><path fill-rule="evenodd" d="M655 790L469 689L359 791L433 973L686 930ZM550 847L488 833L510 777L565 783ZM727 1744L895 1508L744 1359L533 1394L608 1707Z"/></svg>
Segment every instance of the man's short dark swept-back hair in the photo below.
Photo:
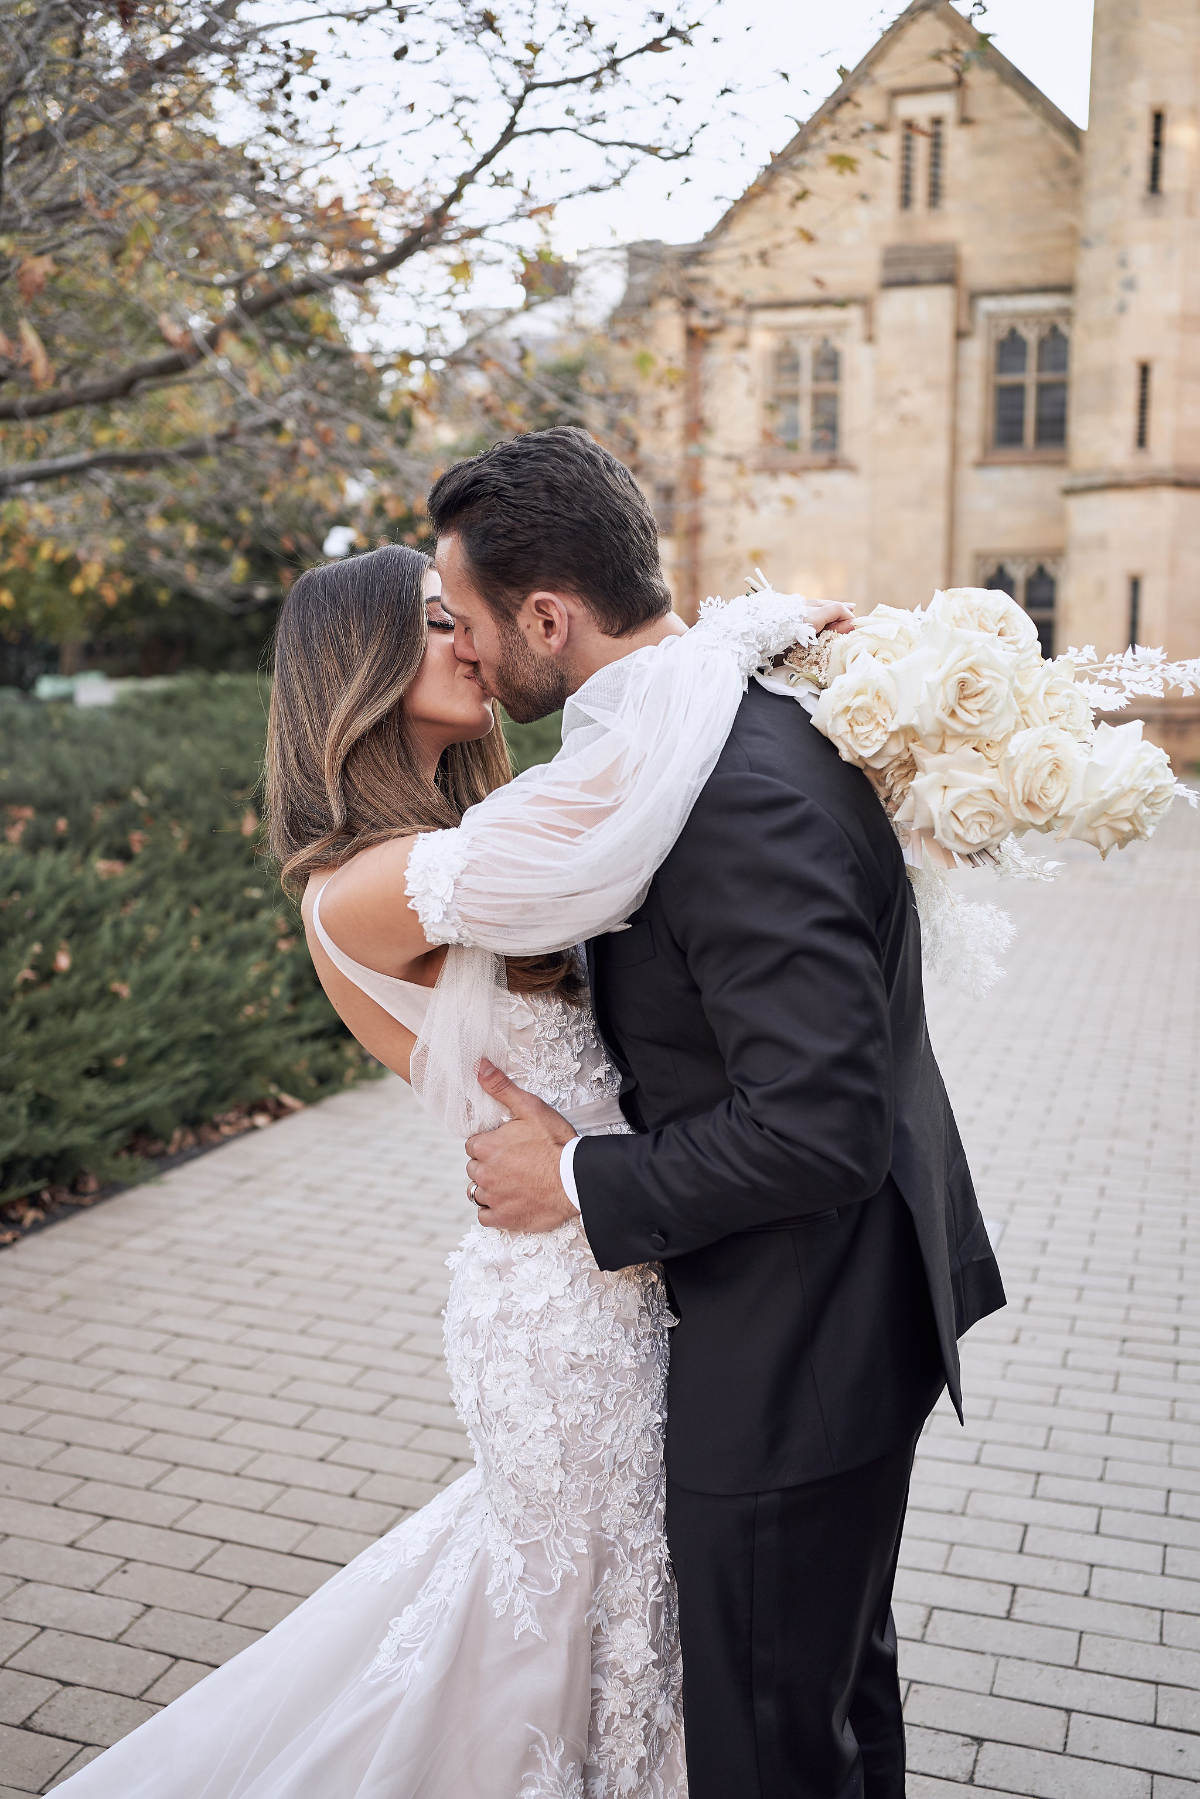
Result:
<svg viewBox="0 0 1200 1799"><path fill-rule="evenodd" d="M475 586L504 617L540 586L574 594L608 637L671 610L646 495L574 425L457 462L434 482L428 513L439 538L459 538Z"/></svg>

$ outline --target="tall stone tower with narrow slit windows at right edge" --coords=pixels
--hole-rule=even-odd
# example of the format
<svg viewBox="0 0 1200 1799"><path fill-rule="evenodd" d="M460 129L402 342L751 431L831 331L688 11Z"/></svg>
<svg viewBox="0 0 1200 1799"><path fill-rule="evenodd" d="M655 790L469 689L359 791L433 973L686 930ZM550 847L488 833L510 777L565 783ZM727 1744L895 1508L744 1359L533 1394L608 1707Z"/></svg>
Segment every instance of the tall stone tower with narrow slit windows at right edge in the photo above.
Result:
<svg viewBox="0 0 1200 1799"><path fill-rule="evenodd" d="M1096 0L1070 360L1060 646L1200 655L1198 0Z"/></svg>

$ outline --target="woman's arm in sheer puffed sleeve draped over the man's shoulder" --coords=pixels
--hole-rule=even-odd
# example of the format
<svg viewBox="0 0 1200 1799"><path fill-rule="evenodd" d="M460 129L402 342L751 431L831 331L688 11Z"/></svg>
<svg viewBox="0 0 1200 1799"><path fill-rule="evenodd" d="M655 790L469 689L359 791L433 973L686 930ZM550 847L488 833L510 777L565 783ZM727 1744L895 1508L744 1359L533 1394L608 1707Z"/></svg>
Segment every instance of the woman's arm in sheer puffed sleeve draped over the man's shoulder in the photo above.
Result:
<svg viewBox="0 0 1200 1799"><path fill-rule="evenodd" d="M748 675L826 624L849 628L849 610L756 594L601 669L567 703L554 761L453 829L378 844L338 869L320 901L329 934L369 968L412 979L446 943L533 955L613 930L687 822Z"/></svg>

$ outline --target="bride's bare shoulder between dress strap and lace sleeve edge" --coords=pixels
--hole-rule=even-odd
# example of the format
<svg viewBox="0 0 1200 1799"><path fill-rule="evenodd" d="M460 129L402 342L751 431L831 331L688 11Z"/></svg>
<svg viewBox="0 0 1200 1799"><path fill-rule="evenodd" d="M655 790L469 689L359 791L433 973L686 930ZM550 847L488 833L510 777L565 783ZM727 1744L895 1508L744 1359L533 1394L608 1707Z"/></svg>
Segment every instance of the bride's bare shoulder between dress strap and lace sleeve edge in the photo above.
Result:
<svg viewBox="0 0 1200 1799"><path fill-rule="evenodd" d="M417 914L408 907L405 874L417 833L371 844L336 869L313 869L300 901L311 928L320 892L320 923L347 955L380 973L407 977L430 953Z"/></svg>

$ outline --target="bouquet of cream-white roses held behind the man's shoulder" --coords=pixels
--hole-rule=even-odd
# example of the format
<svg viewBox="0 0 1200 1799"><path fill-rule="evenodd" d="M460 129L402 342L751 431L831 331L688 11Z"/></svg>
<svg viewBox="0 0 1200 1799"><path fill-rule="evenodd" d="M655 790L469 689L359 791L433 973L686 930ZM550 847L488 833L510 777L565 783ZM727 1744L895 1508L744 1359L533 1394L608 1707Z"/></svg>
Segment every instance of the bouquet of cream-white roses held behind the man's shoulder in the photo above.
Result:
<svg viewBox="0 0 1200 1799"><path fill-rule="evenodd" d="M1148 649L1097 660L1090 646L1047 662L1007 594L957 586L914 612L876 606L853 631L788 651L784 671L820 689L813 725L867 772L918 867L997 862L1025 831L1106 856L1150 837L1177 793L1195 804L1141 721L1096 725L1092 712L1166 687L1200 693L1200 662Z"/></svg>

